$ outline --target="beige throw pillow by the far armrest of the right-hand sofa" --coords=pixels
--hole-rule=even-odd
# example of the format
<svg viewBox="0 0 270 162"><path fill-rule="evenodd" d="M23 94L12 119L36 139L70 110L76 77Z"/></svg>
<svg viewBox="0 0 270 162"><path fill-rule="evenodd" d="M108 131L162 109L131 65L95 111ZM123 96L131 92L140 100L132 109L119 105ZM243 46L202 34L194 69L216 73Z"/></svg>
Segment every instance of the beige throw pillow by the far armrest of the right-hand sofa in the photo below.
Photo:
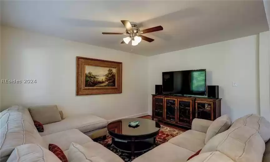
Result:
<svg viewBox="0 0 270 162"><path fill-rule="evenodd" d="M207 132L206 132L206 137L205 137L205 142L207 143L212 137L216 136L217 134L226 131L232 124L231 119L229 116L223 115L221 117L218 117L214 122L209 126Z"/></svg>

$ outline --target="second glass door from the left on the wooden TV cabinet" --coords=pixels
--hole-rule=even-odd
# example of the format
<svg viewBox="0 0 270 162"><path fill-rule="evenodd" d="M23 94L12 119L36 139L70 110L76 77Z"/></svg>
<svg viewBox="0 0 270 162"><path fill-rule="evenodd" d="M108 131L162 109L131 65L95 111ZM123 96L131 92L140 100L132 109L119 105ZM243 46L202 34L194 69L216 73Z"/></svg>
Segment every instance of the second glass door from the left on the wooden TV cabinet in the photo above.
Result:
<svg viewBox="0 0 270 162"><path fill-rule="evenodd" d="M165 120L176 122L176 99L165 98Z"/></svg>

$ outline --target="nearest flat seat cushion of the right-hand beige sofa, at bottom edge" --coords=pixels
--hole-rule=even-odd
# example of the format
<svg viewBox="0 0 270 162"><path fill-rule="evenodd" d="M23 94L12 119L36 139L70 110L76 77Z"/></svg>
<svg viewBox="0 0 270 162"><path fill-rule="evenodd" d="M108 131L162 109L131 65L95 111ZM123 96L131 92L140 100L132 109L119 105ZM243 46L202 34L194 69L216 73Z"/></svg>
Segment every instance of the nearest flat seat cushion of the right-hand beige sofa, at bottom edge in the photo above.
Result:
<svg viewBox="0 0 270 162"><path fill-rule="evenodd" d="M165 142L137 157L132 162L184 162L195 152Z"/></svg>

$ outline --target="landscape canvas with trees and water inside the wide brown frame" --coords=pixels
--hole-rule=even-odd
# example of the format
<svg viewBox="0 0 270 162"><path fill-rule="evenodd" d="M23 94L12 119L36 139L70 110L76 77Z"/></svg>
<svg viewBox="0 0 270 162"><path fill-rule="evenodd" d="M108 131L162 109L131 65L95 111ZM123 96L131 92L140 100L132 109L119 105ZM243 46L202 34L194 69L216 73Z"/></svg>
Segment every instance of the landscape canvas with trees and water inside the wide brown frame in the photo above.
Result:
<svg viewBox="0 0 270 162"><path fill-rule="evenodd" d="M85 66L85 87L115 87L116 68Z"/></svg>

